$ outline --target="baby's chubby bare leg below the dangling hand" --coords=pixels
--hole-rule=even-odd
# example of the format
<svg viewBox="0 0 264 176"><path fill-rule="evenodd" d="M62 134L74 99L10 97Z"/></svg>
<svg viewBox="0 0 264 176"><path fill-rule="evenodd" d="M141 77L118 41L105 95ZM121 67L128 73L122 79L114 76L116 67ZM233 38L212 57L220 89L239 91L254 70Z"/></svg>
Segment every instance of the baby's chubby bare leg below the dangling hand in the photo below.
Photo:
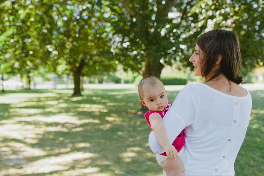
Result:
<svg viewBox="0 0 264 176"><path fill-rule="evenodd" d="M184 176L184 165L182 159L176 156L176 160L167 159L162 164L167 176Z"/></svg>

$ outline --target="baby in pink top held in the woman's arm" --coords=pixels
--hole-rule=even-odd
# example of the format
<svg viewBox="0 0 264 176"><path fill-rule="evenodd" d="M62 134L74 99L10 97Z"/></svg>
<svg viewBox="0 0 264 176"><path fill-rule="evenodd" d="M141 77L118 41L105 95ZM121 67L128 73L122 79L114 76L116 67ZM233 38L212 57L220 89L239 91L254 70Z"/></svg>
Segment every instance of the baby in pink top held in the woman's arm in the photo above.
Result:
<svg viewBox="0 0 264 176"><path fill-rule="evenodd" d="M162 118L171 106L171 104L168 104L167 91L163 82L158 77L146 77L138 84L138 93L141 98L140 102L149 109L144 115L145 119L151 130L154 131L160 146L165 151L162 154L156 154L158 163L163 167L167 176L184 176L185 170L181 160L185 143L183 131L170 144L167 138L167 131L162 122Z"/></svg>

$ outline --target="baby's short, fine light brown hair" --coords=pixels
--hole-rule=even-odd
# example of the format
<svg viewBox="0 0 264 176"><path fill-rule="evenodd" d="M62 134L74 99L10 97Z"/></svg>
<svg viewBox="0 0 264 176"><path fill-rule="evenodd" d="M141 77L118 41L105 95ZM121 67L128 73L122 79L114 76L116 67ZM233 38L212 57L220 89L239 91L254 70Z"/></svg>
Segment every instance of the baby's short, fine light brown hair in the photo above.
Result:
<svg viewBox="0 0 264 176"><path fill-rule="evenodd" d="M138 94L140 98L143 98L143 91L145 88L155 87L158 83L161 83L164 86L162 80L155 76L149 76L142 79L138 84Z"/></svg>

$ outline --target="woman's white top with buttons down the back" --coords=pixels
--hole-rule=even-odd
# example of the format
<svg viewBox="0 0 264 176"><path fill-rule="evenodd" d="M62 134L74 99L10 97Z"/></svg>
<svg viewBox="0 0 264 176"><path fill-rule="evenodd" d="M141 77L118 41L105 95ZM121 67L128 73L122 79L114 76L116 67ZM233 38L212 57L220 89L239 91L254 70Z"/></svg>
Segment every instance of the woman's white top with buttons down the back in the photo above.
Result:
<svg viewBox="0 0 264 176"><path fill-rule="evenodd" d="M185 176L234 176L234 162L243 143L252 99L219 92L206 84L185 86L162 119L170 143L185 128L182 161ZM163 153L152 131L150 148Z"/></svg>

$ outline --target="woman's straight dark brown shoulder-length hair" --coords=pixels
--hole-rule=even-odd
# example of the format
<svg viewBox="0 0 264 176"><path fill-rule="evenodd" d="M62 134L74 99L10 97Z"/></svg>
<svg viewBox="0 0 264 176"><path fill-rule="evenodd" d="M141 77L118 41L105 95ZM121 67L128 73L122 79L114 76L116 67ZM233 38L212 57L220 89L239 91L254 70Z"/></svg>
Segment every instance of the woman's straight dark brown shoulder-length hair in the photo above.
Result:
<svg viewBox="0 0 264 176"><path fill-rule="evenodd" d="M243 77L238 75L241 70L242 59L236 33L215 29L200 35L196 43L204 52L204 55L202 55L202 76L206 81L212 80L223 73L229 81L236 84L242 82ZM218 60L217 55L222 56L220 69L212 73ZM212 74L210 78L208 78L209 74Z"/></svg>

